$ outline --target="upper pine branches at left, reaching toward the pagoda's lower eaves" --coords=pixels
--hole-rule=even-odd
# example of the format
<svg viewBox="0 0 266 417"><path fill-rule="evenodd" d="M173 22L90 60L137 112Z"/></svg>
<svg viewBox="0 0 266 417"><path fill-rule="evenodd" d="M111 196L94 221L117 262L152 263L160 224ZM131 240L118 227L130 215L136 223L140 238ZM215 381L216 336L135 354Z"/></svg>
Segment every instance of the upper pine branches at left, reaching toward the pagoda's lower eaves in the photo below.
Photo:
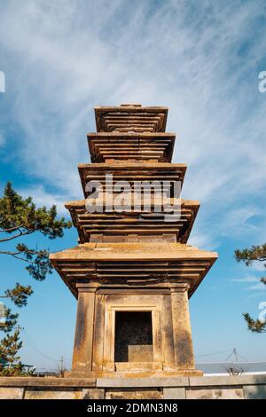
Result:
<svg viewBox="0 0 266 417"><path fill-rule="evenodd" d="M23 199L12 189L11 183L7 183L0 199L0 236L4 233L0 243L17 241L35 232L42 233L48 239L56 239L62 237L64 230L69 227L71 222L66 222L64 217L57 218L56 206L36 209L31 197ZM27 271L37 280L45 279L52 271L47 249L28 248L20 242L15 249L0 248L0 254L26 262Z"/></svg>

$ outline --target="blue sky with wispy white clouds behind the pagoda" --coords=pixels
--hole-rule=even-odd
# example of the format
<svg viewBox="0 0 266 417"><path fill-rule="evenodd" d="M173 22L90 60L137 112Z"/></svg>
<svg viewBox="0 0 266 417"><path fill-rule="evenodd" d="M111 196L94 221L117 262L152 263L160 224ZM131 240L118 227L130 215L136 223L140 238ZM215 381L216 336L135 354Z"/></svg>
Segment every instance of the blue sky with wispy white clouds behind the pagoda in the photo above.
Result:
<svg viewBox="0 0 266 417"><path fill-rule="evenodd" d="M82 197L76 166L90 161L93 107L168 106L173 161L188 164L183 197L201 203L190 243L219 253L191 300L195 354L237 348L266 360L265 337L241 316L256 317L266 301L263 269L233 259L235 248L265 241L265 2L0 0L0 16L1 189L11 180L67 216L64 201ZM76 240L74 230L37 237L51 250ZM17 280L35 289L20 310L23 361L52 369L63 355L69 364L76 302L59 276L32 282L5 256L1 276L2 291Z"/></svg>

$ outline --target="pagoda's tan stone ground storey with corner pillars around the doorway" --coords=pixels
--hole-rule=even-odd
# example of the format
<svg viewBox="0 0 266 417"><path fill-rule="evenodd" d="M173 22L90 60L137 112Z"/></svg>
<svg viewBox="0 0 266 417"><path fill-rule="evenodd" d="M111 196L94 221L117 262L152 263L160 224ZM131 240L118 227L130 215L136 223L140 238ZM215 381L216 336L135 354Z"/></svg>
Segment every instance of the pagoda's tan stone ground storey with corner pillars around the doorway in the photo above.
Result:
<svg viewBox="0 0 266 417"><path fill-rule="evenodd" d="M194 369L188 284L169 284L163 289L113 289L112 283L108 287L98 284L98 288L80 286L70 376L201 374ZM130 334L124 334L125 341L129 337L129 342L121 349L126 348L127 355L116 361L115 335L117 337L116 328L121 326L121 312L126 312L129 317L130 313L133 317L137 312L149 314L151 338L147 342L152 344L143 348L139 344L129 344ZM140 333L148 332L143 322L133 324L136 334L139 334L137 326ZM129 331L132 332L130 327Z"/></svg>

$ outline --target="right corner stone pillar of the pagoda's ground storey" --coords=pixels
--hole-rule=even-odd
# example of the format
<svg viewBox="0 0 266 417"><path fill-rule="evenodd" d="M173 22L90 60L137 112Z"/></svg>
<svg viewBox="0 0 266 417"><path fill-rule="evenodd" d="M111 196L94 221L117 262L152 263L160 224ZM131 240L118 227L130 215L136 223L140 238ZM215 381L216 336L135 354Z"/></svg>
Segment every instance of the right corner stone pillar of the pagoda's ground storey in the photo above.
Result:
<svg viewBox="0 0 266 417"><path fill-rule="evenodd" d="M192 328L188 305L188 284L180 283L170 288L176 368L193 369L194 354Z"/></svg>

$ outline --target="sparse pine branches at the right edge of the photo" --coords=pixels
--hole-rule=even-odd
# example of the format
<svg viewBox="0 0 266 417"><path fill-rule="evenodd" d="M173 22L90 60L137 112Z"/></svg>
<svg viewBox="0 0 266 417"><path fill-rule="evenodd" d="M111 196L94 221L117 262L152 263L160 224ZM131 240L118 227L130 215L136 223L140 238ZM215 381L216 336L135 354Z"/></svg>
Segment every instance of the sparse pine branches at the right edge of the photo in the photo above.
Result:
<svg viewBox="0 0 266 417"><path fill-rule="evenodd" d="M260 246L252 246L243 250L235 251L235 258L238 262L244 262L246 266L253 264L254 262L265 263L263 266L266 268L266 243ZM266 278L261 278L262 284L266 285ZM254 333L266 333L266 321L259 319L252 319L252 317L246 312L243 314L248 329Z"/></svg>

